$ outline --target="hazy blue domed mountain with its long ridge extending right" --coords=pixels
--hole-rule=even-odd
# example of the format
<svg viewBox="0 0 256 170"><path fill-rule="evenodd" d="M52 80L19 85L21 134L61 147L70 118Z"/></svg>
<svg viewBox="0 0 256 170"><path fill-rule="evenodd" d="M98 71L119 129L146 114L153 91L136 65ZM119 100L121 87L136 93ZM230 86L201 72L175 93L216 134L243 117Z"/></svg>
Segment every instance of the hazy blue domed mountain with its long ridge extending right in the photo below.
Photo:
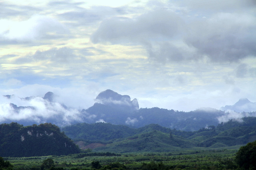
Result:
<svg viewBox="0 0 256 170"><path fill-rule="evenodd" d="M105 90L96 97L94 106L82 110L84 115L91 115L87 123L104 122L114 125L143 127L157 123L164 127L185 131L197 131L208 125L218 125L218 117L224 111L213 108L200 108L195 111L183 112L168 109L140 108L136 99L121 95L113 90Z"/></svg>

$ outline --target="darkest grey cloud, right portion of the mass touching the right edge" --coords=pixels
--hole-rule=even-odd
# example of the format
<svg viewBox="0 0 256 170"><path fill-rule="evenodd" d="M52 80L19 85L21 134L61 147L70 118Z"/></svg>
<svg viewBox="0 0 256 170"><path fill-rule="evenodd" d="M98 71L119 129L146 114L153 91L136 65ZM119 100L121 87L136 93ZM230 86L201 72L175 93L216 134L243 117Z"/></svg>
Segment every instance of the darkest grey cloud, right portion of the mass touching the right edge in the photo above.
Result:
<svg viewBox="0 0 256 170"><path fill-rule="evenodd" d="M191 23L185 42L214 62L236 62L256 53L255 16L217 13Z"/></svg>

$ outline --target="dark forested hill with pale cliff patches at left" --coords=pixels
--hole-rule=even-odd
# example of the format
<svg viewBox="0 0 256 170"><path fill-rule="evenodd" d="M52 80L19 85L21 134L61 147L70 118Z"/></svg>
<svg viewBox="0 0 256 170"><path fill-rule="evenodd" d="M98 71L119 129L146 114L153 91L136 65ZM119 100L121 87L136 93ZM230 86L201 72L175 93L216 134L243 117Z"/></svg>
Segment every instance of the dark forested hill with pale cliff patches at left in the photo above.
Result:
<svg viewBox="0 0 256 170"><path fill-rule="evenodd" d="M51 123L26 127L13 122L0 125L2 157L67 155L79 151L77 145Z"/></svg>

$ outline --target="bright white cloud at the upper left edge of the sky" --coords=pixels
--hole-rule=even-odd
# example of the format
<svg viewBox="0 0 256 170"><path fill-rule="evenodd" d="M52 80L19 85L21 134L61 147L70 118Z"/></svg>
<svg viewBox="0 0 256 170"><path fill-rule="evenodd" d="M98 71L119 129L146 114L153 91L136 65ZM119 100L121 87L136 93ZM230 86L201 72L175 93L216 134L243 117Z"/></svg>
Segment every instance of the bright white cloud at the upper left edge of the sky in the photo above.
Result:
<svg viewBox="0 0 256 170"><path fill-rule="evenodd" d="M69 33L68 29L53 18L34 15L28 20L0 20L1 41L30 42L38 39L52 39Z"/></svg>

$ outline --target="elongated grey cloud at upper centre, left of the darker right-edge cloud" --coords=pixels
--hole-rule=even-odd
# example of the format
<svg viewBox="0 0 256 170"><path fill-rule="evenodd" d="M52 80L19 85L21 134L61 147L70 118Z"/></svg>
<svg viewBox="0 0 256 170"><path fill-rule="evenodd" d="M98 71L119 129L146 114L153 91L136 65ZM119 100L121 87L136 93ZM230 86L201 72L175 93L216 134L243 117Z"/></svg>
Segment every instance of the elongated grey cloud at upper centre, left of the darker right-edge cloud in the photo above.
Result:
<svg viewBox="0 0 256 170"><path fill-rule="evenodd" d="M182 20L174 12L158 10L143 14L138 18L111 18L101 23L92 35L94 43L110 41L144 42L150 39L162 41L172 38L182 29Z"/></svg>

